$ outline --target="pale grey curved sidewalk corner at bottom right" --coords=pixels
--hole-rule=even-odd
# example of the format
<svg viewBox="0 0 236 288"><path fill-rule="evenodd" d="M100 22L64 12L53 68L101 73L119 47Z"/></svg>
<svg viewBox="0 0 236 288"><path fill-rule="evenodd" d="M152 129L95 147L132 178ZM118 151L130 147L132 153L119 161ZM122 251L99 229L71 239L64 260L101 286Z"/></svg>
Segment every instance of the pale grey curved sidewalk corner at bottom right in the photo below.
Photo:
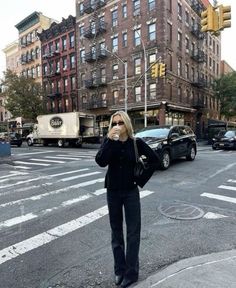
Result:
<svg viewBox="0 0 236 288"><path fill-rule="evenodd" d="M236 250L181 260L131 287L235 288Z"/></svg>

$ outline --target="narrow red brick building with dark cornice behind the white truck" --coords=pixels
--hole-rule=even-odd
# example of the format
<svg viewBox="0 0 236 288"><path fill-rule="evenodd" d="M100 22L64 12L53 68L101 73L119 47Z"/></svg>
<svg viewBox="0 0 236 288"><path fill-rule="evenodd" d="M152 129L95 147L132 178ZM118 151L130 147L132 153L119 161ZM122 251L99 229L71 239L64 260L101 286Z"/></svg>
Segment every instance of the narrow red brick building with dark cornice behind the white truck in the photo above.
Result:
<svg viewBox="0 0 236 288"><path fill-rule="evenodd" d="M75 23L75 17L69 16L39 34L43 87L50 112L78 111Z"/></svg>

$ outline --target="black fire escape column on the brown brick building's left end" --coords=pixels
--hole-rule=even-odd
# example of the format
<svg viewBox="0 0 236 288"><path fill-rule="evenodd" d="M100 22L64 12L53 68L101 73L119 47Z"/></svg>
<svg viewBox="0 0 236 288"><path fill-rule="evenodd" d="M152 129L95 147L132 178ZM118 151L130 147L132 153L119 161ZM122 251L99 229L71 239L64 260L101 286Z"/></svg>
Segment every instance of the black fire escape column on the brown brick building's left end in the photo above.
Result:
<svg viewBox="0 0 236 288"><path fill-rule="evenodd" d="M106 108L107 100L100 95L102 89L107 86L107 76L102 68L102 61L107 58L105 43L101 43L101 36L107 31L107 23L103 16L99 16L101 8L106 5L106 0L86 0L84 13L90 14L89 27L86 27L83 36L90 41L89 51L85 53L85 62L89 64L89 75L84 81L85 88L89 89L92 97L87 101L87 109ZM88 46L87 46L88 47Z"/></svg>

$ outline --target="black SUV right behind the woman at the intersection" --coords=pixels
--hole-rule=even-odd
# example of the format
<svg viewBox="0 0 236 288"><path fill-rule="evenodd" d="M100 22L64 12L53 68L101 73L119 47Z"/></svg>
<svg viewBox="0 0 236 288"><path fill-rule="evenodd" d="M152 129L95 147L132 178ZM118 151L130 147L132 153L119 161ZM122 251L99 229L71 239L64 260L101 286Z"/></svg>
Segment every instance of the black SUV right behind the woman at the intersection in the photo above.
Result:
<svg viewBox="0 0 236 288"><path fill-rule="evenodd" d="M168 169L174 159L186 157L193 161L197 154L196 135L189 126L150 126L135 137L142 138L157 153L162 170Z"/></svg>

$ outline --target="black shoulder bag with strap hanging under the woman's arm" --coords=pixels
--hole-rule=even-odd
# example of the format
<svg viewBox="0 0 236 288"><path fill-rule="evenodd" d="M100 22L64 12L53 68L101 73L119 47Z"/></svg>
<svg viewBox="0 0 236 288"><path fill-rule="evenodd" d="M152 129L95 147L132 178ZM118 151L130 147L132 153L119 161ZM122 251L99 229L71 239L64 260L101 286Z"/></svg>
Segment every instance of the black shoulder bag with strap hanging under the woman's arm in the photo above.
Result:
<svg viewBox="0 0 236 288"><path fill-rule="evenodd" d="M136 159L136 164L134 166L134 180L138 186L143 188L143 186L152 177L155 169L150 167L148 162L142 159L142 156L139 156L136 138L134 138L134 152Z"/></svg>

